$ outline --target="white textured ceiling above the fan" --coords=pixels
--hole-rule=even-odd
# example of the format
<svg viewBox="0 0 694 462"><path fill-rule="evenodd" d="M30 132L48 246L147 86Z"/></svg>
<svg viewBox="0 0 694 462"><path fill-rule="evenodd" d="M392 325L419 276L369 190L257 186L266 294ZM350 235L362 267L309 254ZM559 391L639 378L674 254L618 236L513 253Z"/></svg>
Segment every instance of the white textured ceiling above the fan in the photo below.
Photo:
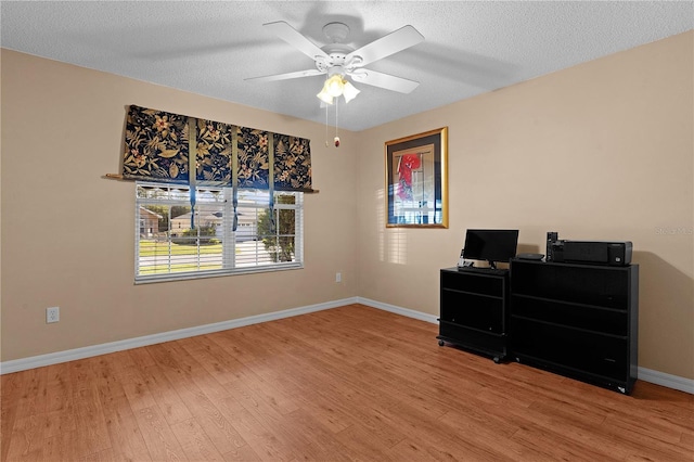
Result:
<svg viewBox="0 0 694 462"><path fill-rule="evenodd" d="M374 70L420 81L410 94L355 84L339 127L363 130L694 28L692 1L2 1L3 48L324 123L324 77L248 77L313 68L264 23L319 47L340 21L359 48L407 24L425 41ZM138 104L138 101L132 101ZM166 110L166 107L162 107ZM327 114L334 124L334 110Z"/></svg>

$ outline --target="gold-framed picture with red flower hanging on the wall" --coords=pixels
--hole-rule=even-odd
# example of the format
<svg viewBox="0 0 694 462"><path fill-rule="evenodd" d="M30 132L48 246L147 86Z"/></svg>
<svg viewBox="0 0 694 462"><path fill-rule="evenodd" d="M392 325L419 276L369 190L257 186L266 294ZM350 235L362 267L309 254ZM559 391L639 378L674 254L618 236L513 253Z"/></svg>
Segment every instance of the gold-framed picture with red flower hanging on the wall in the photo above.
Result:
<svg viewBox="0 0 694 462"><path fill-rule="evenodd" d="M385 147L386 227L448 228L448 127Z"/></svg>

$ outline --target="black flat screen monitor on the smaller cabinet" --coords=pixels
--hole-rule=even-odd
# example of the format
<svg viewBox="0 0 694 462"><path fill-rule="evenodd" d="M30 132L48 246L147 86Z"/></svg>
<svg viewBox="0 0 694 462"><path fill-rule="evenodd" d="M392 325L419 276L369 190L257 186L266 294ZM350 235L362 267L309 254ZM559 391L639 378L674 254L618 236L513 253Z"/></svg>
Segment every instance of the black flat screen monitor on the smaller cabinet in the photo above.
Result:
<svg viewBox="0 0 694 462"><path fill-rule="evenodd" d="M463 257L486 260L496 268L497 261L510 261L515 257L517 246L518 230L467 230Z"/></svg>

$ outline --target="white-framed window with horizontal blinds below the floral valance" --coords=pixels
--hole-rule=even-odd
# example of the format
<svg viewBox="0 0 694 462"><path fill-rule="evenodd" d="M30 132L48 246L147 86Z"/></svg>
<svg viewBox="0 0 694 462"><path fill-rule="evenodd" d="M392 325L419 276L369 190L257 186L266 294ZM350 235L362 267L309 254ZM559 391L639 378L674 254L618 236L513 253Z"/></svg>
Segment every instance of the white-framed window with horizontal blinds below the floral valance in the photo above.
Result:
<svg viewBox="0 0 694 462"><path fill-rule="evenodd" d="M275 191L270 209L269 191L239 190L234 214L231 188L198 187L194 213L187 185L138 182L136 191L136 282L304 266L300 192Z"/></svg>

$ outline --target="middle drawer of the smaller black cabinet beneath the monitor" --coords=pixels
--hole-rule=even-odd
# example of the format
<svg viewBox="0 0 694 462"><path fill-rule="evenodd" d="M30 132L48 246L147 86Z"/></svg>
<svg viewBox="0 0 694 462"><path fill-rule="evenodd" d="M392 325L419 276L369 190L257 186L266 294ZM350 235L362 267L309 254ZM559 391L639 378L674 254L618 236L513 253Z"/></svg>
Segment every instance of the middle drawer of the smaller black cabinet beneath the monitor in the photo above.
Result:
<svg viewBox="0 0 694 462"><path fill-rule="evenodd" d="M502 298L442 288L440 317L480 331L504 332Z"/></svg>

